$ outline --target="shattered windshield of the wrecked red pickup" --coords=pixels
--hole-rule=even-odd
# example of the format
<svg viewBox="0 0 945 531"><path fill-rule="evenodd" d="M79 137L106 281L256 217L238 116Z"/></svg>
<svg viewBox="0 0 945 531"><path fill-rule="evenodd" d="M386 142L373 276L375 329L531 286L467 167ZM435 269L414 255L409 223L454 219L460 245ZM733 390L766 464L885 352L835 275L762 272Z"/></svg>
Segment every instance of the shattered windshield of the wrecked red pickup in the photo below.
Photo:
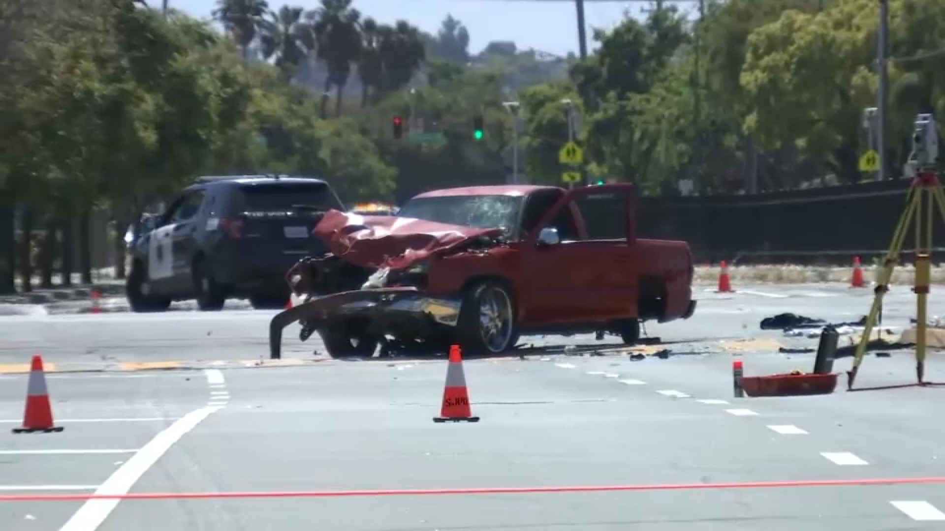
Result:
<svg viewBox="0 0 945 531"><path fill-rule="evenodd" d="M475 229L506 229L515 226L522 197L441 196L417 197L404 204L397 215Z"/></svg>

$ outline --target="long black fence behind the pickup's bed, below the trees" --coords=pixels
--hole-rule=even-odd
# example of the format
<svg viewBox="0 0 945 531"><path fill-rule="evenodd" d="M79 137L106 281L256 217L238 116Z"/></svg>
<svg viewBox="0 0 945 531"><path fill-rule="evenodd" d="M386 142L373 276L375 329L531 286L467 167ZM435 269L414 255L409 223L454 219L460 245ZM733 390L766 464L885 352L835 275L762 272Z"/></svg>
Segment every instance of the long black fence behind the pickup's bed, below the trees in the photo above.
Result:
<svg viewBox="0 0 945 531"><path fill-rule="evenodd" d="M849 264L885 254L910 180L885 180L756 196L642 197L638 234L689 242L696 263ZM935 247L945 248L936 209ZM912 231L902 246L915 248ZM903 261L911 261L903 256Z"/></svg>

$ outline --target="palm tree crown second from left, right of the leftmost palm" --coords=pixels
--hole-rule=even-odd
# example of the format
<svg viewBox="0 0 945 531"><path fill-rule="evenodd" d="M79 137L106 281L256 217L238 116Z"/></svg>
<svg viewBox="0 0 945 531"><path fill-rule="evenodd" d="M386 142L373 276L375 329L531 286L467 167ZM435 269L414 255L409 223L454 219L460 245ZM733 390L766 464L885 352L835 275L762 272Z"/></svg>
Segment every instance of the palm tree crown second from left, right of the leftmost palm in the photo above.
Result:
<svg viewBox="0 0 945 531"><path fill-rule="evenodd" d="M315 36L311 26L302 20L302 10L283 6L278 12L270 13L261 28L263 58L269 60L275 56L275 64L286 78L295 75L301 61L315 48Z"/></svg>

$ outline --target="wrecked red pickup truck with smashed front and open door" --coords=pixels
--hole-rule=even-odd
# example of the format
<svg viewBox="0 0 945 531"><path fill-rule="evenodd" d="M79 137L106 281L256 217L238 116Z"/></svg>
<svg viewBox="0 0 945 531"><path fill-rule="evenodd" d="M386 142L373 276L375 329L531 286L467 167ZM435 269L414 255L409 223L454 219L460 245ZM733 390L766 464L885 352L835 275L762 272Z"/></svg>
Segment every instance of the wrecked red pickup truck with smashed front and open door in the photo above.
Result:
<svg viewBox="0 0 945 531"><path fill-rule="evenodd" d="M691 317L685 242L637 238L634 189L606 184L473 186L427 192L397 216L331 211L314 233L330 252L290 271L301 321L338 358L403 351L489 354L522 334L640 337L640 323Z"/></svg>

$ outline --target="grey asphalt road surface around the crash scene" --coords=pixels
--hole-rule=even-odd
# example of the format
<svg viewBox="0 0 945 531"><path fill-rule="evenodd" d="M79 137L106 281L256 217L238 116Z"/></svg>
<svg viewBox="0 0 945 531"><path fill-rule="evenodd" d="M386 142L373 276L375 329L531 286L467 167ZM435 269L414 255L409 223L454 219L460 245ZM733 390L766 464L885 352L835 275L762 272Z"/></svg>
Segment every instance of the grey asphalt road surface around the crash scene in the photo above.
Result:
<svg viewBox="0 0 945 531"><path fill-rule="evenodd" d="M809 370L812 339L758 331L790 311L855 319L869 293L833 286L702 292L696 317L652 325L667 359L546 351L465 363L476 424L436 424L445 363L266 368L271 312L0 319L0 494L665 485L945 476L945 388L735 399L730 363ZM935 297L935 296L934 296ZM906 289L885 323L904 325ZM945 301L943 301L945 302ZM934 302L932 314L945 313ZM663 348L663 347L660 347ZM43 354L60 434L12 435L22 364ZM286 354L287 356L289 354ZM936 354L939 355L939 354ZM838 371L849 360L837 362ZM101 372L66 372L79 364ZM176 365L174 365L176 364ZM291 365L291 364L290 364ZM177 370L155 370L174 368ZM6 369L5 369L6 368ZM195 369L189 369L195 368ZM945 381L939 358L929 379ZM911 358L866 358L862 385L907 383ZM937 507L937 508L936 508ZM125 529L937 529L945 485L346 498L0 501L5 531ZM921 519L936 519L926 520ZM67 523L68 522L68 523Z"/></svg>

